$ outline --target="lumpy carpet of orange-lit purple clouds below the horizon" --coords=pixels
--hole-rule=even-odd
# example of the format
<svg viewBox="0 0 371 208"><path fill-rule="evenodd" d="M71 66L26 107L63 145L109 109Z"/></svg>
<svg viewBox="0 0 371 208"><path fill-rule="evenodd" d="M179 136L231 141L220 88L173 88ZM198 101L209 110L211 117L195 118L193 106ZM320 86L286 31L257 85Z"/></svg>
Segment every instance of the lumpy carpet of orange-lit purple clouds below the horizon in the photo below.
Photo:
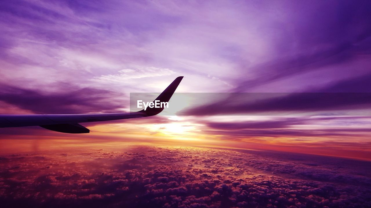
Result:
<svg viewBox="0 0 371 208"><path fill-rule="evenodd" d="M0 199L9 207L370 203L371 181L364 169L369 162L323 156L139 146L128 152L9 155L1 160Z"/></svg>

